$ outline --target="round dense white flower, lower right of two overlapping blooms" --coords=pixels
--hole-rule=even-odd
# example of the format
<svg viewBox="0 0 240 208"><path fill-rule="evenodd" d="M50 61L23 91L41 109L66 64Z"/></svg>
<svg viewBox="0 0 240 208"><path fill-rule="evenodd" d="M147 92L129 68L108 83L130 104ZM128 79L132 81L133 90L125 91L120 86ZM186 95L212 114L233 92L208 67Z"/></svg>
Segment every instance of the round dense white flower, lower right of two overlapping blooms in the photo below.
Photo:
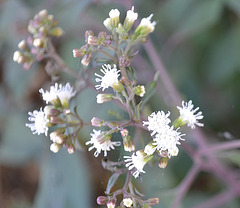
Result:
<svg viewBox="0 0 240 208"><path fill-rule="evenodd" d="M178 148L177 145L181 144L179 140L184 140L181 138L184 136L178 129L174 130L173 126L166 126L166 128L161 129L155 137L153 138L153 145L156 145L156 149L161 151L168 151L168 156L177 156Z"/></svg>

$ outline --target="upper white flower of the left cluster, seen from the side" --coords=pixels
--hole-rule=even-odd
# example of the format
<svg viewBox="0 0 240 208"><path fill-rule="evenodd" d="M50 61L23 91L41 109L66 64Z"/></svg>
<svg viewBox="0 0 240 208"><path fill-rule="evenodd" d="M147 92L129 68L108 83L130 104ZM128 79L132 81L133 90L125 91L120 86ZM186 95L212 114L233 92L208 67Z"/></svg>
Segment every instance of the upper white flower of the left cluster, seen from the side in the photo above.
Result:
<svg viewBox="0 0 240 208"><path fill-rule="evenodd" d="M63 106L68 106L69 100L75 96L76 91L73 90L71 85L67 83L65 86L62 84L55 83L54 86L50 87L50 91L44 92L41 88L39 92L42 94L43 100L48 104L49 102L52 104L56 104L59 99Z"/></svg>

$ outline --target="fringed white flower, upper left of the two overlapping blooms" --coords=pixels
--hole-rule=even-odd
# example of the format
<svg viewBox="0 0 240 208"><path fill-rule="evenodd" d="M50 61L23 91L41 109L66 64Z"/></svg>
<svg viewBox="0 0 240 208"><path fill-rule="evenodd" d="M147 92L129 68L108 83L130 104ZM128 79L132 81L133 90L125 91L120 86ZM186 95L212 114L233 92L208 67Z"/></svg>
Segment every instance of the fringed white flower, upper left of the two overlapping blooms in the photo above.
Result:
<svg viewBox="0 0 240 208"><path fill-rule="evenodd" d="M165 114L163 111L158 111L157 113L153 112L148 116L148 121L143 121L143 125L148 125L148 130L152 131L151 136L160 132L161 129L166 128L171 120L168 118L170 112Z"/></svg>

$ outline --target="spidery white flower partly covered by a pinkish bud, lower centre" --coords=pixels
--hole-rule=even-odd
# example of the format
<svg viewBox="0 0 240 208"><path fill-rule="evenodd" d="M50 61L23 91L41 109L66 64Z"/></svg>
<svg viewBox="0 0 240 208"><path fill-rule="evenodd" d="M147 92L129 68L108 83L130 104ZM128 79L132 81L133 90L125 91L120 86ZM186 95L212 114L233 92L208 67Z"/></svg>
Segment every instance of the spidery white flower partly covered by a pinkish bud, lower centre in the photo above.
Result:
<svg viewBox="0 0 240 208"><path fill-rule="evenodd" d="M99 143L97 140L97 137L101 135L101 130L97 131L93 129L93 133L91 133L91 140L86 142L86 145L92 144L92 147L89 147L88 151L91 151L92 149L96 148L96 151L94 152L94 156L97 157L101 151L104 152L104 157L107 156L107 151L110 151L111 149L115 149L114 146L120 146L121 142L112 142L111 140L104 141L103 143Z"/></svg>

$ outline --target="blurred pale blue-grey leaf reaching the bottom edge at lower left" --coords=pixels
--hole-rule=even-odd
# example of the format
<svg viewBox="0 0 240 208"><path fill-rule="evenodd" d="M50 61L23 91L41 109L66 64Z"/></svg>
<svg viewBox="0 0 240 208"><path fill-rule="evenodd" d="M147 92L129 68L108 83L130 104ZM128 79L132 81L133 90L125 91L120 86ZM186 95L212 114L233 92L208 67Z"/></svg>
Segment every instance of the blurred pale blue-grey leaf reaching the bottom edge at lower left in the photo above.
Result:
<svg viewBox="0 0 240 208"><path fill-rule="evenodd" d="M83 157L69 155L66 149L45 152L34 208L91 207L86 165Z"/></svg>

